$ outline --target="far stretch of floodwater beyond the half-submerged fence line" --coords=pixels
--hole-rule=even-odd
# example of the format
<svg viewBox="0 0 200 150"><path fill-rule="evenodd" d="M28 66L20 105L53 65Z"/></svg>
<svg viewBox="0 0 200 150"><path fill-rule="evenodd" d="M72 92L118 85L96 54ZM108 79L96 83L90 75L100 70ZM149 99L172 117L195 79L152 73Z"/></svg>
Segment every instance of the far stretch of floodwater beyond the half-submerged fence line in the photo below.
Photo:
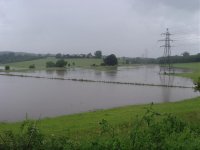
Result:
<svg viewBox="0 0 200 150"><path fill-rule="evenodd" d="M185 69L176 69L178 72L186 72ZM22 73L18 73L22 74ZM163 76L159 75L159 66L147 65L147 66L131 66L131 67L113 67L109 70L93 70L83 68L69 68L67 70L59 71L36 71L25 72L24 74L45 76L45 77L62 77L62 78L77 78L88 80L104 80L114 82L134 82L134 83L146 83L146 84L162 84L164 80ZM193 82L190 79L173 77L173 83L175 86L193 86ZM171 80L171 79L170 79ZM166 82L166 81L165 81Z"/></svg>

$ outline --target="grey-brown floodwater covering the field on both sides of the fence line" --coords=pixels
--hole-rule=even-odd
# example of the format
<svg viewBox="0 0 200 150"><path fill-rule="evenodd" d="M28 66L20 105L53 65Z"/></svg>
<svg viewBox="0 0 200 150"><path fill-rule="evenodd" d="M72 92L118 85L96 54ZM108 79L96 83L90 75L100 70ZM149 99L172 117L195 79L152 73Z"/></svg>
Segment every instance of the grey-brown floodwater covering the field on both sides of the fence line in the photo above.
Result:
<svg viewBox="0 0 200 150"><path fill-rule="evenodd" d="M177 70L187 71L187 70ZM118 67L97 71L74 68L27 74L91 80L193 86L190 79L159 75L158 66ZM130 104L179 101L200 96L192 88L136 86L0 76L0 121L53 117Z"/></svg>

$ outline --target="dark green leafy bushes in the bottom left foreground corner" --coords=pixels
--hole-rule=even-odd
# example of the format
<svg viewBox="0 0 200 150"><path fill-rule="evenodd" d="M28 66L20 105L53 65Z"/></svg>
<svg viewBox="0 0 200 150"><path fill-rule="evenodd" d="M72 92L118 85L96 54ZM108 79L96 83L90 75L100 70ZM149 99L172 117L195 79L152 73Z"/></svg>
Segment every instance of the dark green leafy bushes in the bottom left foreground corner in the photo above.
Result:
<svg viewBox="0 0 200 150"><path fill-rule="evenodd" d="M44 136L37 121L26 120L22 123L19 133L4 131L0 134L1 150L46 150L46 149L77 149L77 144L67 137Z"/></svg>

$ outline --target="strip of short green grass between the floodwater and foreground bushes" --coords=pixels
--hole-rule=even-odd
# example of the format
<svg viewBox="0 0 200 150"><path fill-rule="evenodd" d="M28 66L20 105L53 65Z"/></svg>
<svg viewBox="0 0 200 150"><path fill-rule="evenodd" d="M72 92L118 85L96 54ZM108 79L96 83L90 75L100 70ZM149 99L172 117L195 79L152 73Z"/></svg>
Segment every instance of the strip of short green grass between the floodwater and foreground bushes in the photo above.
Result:
<svg viewBox="0 0 200 150"><path fill-rule="evenodd" d="M120 128L128 126L135 117L144 114L145 107L149 105L133 105L95 112L86 112L74 115L66 115L55 118L45 118L39 121L39 128L46 135L65 135L70 133L76 138L92 137L98 132L99 122L107 120L112 126ZM172 113L182 119L200 125L200 97L173 103L154 104L157 112ZM17 131L21 122L0 123L0 131L12 129Z"/></svg>

